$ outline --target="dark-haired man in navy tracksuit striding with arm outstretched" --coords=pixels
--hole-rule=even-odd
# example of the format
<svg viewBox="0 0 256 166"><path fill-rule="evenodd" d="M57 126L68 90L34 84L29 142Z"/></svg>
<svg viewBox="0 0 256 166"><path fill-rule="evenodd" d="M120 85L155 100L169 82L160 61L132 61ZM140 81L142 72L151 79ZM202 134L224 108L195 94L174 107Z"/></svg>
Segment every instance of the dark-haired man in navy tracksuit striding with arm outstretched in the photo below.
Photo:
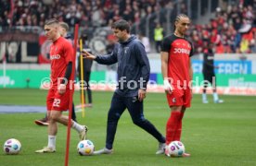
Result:
<svg viewBox="0 0 256 166"><path fill-rule="evenodd" d="M143 114L143 100L146 98L147 81L150 66L144 45L134 35L130 35L130 26L121 19L112 25L114 35L118 38L113 52L95 56L83 51L84 58L95 60L98 64L112 65L118 63L118 87L112 97L108 114L106 147L95 151L95 154L110 154L117 125L122 113L127 108L135 125L140 126L159 141L156 154L164 153L165 138Z"/></svg>

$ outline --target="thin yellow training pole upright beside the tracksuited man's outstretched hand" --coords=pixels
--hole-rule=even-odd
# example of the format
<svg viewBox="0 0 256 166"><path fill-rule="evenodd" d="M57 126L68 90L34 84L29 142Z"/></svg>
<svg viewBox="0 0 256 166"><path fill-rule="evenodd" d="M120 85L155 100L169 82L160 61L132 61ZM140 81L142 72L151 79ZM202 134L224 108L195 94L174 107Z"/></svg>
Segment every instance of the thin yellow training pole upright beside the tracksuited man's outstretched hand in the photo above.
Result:
<svg viewBox="0 0 256 166"><path fill-rule="evenodd" d="M80 77L83 83L81 84L81 101L82 101L82 117L85 116L84 112L84 105L85 105L85 95L84 95L84 78L83 78L83 56L82 56L82 50L83 50L83 41L80 40Z"/></svg>

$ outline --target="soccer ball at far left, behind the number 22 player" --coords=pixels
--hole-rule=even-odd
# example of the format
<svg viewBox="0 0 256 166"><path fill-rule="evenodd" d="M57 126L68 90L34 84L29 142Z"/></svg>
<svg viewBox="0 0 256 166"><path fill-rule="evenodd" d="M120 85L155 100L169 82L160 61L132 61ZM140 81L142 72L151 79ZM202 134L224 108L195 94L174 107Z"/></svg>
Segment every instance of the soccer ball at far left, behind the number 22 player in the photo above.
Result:
<svg viewBox="0 0 256 166"><path fill-rule="evenodd" d="M6 154L18 154L21 149L21 144L18 139L10 138L4 144Z"/></svg>

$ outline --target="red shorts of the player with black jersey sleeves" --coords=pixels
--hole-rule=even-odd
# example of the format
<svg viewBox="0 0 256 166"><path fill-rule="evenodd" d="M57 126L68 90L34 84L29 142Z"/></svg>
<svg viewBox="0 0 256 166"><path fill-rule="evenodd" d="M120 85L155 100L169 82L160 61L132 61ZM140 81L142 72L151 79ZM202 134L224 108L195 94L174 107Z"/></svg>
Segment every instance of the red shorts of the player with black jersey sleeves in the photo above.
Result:
<svg viewBox="0 0 256 166"><path fill-rule="evenodd" d="M189 87L182 87L173 85L173 93L166 94L169 106L185 106L190 107L191 102L191 89Z"/></svg>

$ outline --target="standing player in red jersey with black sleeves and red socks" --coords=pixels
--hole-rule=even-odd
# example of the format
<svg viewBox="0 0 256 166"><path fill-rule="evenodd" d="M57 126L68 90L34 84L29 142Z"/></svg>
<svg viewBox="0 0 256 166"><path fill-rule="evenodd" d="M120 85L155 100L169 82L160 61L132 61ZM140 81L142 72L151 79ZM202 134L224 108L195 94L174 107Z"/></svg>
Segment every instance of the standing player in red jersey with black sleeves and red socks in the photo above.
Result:
<svg viewBox="0 0 256 166"><path fill-rule="evenodd" d="M193 46L185 38L190 19L180 14L175 18L174 33L164 38L161 46L161 72L171 116L166 124L166 145L180 140L182 119L187 107L190 107L192 91L190 81L193 77L190 56ZM190 156L184 153L184 157Z"/></svg>

